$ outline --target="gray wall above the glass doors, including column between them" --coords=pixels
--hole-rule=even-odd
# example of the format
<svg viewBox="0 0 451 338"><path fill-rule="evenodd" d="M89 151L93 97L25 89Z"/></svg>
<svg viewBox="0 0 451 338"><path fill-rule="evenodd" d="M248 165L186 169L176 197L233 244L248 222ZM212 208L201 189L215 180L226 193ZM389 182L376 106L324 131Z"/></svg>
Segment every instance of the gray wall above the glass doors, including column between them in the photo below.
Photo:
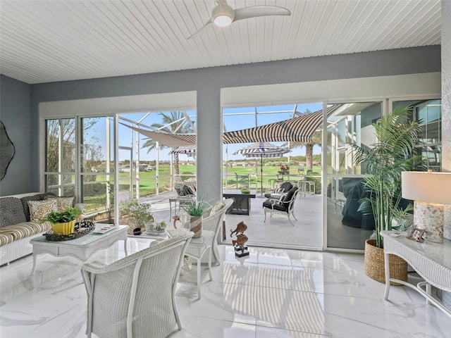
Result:
<svg viewBox="0 0 451 338"><path fill-rule="evenodd" d="M433 72L440 72L440 46L34 84L31 125L36 127L31 130L31 147L23 162L31 156L32 167L38 165L39 102L197 90L197 175L204 178L199 180L199 192L216 198L221 192L222 144L219 138L211 141L210 137L221 134L221 88ZM39 188L37 170L27 185L27 190Z"/></svg>

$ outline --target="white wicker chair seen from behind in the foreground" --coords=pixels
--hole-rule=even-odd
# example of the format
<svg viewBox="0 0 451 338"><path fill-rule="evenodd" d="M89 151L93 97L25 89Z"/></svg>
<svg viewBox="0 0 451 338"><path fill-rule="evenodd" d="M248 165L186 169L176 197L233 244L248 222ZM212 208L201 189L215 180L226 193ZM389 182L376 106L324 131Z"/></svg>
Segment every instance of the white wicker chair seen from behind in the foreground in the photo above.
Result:
<svg viewBox="0 0 451 338"><path fill-rule="evenodd" d="M86 334L100 338L167 337L181 330L175 305L183 256L192 232L168 230L171 238L114 263L82 265L87 291Z"/></svg>

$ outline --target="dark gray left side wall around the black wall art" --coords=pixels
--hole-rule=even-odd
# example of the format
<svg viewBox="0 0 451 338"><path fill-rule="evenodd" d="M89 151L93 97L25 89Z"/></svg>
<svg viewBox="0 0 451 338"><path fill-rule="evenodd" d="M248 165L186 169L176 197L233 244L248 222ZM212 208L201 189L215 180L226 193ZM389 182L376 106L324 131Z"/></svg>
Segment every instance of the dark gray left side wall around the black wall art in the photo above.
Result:
<svg viewBox="0 0 451 338"><path fill-rule="evenodd" d="M0 75L0 120L14 144L16 154L0 181L0 196L37 191L32 184L31 163L31 86L24 82ZM36 128L33 127L34 134Z"/></svg>

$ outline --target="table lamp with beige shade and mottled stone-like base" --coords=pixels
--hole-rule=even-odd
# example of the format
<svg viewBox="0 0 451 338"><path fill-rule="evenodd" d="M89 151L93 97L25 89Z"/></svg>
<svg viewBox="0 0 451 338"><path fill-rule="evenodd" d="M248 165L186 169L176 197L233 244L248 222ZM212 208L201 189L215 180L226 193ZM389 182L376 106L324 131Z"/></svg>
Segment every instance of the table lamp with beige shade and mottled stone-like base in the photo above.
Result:
<svg viewBox="0 0 451 338"><path fill-rule="evenodd" d="M451 173L403 171L401 189L404 199L414 200L414 227L424 229L424 240L443 243L443 204L451 204Z"/></svg>

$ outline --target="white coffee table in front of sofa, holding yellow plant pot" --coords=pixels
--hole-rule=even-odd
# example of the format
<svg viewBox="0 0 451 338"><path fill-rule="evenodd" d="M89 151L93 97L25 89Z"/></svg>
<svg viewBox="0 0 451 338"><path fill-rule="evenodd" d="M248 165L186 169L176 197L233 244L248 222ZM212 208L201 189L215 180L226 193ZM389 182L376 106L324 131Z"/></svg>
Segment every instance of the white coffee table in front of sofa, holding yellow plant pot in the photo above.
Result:
<svg viewBox="0 0 451 338"><path fill-rule="evenodd" d="M51 242L46 237L36 237L30 240L33 246L33 268L31 274L35 274L36 256L39 253L50 253L52 256L73 256L86 261L94 252L106 249L114 243L123 240L125 256L127 256L127 231L128 225L117 225L111 230L101 232L101 229L111 225L96 223L95 229L89 234L69 241Z"/></svg>

